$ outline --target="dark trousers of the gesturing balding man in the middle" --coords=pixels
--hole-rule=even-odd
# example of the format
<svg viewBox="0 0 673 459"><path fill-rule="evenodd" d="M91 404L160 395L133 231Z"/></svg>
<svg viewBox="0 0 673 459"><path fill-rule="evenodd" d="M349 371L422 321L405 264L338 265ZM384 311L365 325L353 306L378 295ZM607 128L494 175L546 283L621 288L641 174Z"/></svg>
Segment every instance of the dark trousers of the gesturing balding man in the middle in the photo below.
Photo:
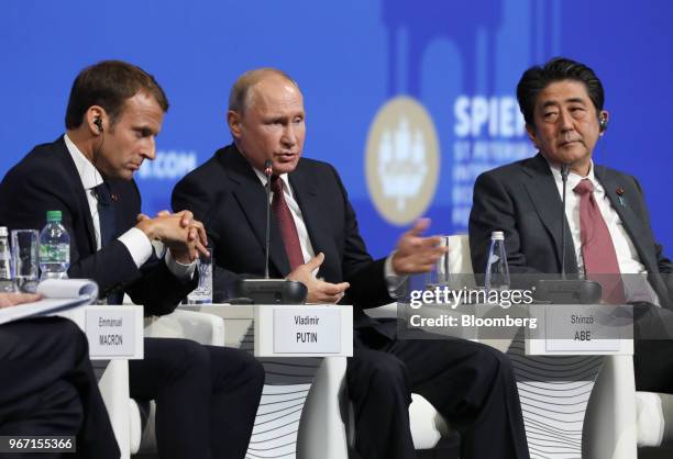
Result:
<svg viewBox="0 0 673 459"><path fill-rule="evenodd" d="M384 325L394 336L395 322ZM529 457L511 363L492 347L355 331L347 391L355 408L356 449L364 459L416 458L411 392L461 433L461 459Z"/></svg>

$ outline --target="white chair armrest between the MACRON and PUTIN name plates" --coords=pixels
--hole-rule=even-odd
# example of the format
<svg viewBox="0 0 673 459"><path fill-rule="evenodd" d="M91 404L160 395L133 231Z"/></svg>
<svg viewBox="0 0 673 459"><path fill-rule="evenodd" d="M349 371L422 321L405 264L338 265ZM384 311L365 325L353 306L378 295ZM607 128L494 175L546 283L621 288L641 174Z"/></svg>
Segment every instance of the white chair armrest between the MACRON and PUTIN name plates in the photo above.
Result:
<svg viewBox="0 0 673 459"><path fill-rule="evenodd" d="M175 310L145 318L147 338L187 338L203 345L224 346L224 321L213 314Z"/></svg>

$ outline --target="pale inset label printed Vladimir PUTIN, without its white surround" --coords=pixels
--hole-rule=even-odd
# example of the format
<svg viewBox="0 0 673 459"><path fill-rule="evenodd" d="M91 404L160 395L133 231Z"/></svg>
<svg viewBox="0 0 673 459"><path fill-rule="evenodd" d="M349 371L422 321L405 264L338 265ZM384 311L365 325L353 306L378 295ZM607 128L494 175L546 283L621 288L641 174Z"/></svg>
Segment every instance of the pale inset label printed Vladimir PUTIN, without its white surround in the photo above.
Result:
<svg viewBox="0 0 673 459"><path fill-rule="evenodd" d="M283 354L338 354L341 316L336 309L274 311L274 351Z"/></svg>

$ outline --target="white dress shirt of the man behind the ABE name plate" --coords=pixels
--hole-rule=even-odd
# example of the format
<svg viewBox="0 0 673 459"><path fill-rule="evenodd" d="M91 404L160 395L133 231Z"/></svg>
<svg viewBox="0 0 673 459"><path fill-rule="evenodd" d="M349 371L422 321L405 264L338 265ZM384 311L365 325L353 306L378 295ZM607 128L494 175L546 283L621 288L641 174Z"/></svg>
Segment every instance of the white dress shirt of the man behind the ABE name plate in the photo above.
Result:
<svg viewBox="0 0 673 459"><path fill-rule="evenodd" d="M559 189L559 194L563 199L563 180L561 179L561 168L559 166L552 165L548 161L552 175L554 176L554 181L556 182L556 188ZM594 161L589 165L589 171L586 177L582 177L574 171L570 171L567 176L566 182L566 192L565 192L565 219L567 220L567 225L570 227L571 236L573 238L573 245L575 247L575 258L577 259L577 271L581 277L585 276L584 271L584 257L582 256L582 239L581 239L581 227L580 227L580 194L575 193L573 189L580 183L581 180L588 179L594 186L594 199L596 200L596 204L598 205L598 210L600 211L600 215L608 227L608 232L610 233L610 238L613 239L613 245L615 246L615 251L617 253L617 264L619 265L619 271L622 275L643 275L642 277L638 277L638 279L644 279L648 273L644 265L640 262L640 257L638 251L636 250L636 246L631 242L631 237L627 233L621 219L617 211L613 208L609 198L605 193L605 188L603 184L596 179L594 175ZM627 300L636 301L640 299L654 299L654 303L659 304L659 300L654 290L651 288L649 282L647 283L648 292L644 293L646 296L641 296L643 294L641 290L642 284L635 281L635 277L627 276L624 278L625 288L627 290L626 295ZM637 286L639 284L639 286ZM640 287L640 288L639 288Z"/></svg>

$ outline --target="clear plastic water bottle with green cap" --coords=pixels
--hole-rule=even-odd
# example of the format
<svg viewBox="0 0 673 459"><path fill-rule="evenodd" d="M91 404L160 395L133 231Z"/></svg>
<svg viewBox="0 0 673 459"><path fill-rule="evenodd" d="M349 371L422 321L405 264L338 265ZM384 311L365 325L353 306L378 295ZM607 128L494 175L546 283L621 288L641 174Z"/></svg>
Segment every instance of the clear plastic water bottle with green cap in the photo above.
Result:
<svg viewBox="0 0 673 459"><path fill-rule="evenodd" d="M47 224L40 233L40 280L67 279L70 266L70 235L60 224L60 211L47 212Z"/></svg>

